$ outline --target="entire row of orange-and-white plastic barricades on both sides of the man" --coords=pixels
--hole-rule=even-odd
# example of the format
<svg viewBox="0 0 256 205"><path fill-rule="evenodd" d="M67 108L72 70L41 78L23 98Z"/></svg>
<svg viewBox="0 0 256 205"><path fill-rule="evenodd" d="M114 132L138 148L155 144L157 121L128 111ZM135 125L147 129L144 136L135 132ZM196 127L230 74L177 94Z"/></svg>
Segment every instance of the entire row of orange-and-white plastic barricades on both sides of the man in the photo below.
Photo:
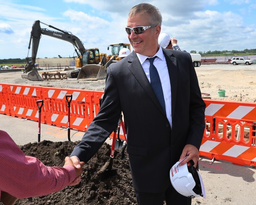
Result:
<svg viewBox="0 0 256 205"><path fill-rule="evenodd" d="M43 100L41 123L87 130L100 109L102 91L0 84L0 114L38 121L37 100ZM256 103L206 100L206 128L200 156L256 166ZM113 136L113 133L111 134ZM122 129L120 137L124 139Z"/></svg>

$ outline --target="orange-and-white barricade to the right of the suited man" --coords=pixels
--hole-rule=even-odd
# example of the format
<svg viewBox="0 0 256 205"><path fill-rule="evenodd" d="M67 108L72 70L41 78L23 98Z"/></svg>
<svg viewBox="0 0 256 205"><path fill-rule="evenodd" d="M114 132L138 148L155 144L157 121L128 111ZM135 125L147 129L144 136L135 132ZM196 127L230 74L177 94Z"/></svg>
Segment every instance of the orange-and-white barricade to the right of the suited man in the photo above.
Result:
<svg viewBox="0 0 256 205"><path fill-rule="evenodd" d="M256 166L256 104L204 101L206 130L199 154Z"/></svg>

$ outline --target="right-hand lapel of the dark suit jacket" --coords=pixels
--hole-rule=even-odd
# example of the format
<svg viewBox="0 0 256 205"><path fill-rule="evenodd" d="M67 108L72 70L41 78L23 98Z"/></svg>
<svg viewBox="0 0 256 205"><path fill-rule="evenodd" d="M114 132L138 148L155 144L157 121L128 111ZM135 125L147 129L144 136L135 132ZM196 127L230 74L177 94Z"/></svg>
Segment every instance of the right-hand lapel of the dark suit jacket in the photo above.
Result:
<svg viewBox="0 0 256 205"><path fill-rule="evenodd" d="M176 95L177 95L177 80L178 80L178 72L177 72L177 59L173 57L171 50L163 49L164 57L166 59L166 64L169 72L169 78L171 82L171 112L172 118L174 116L175 105L176 105ZM168 52L168 54L167 54Z"/></svg>

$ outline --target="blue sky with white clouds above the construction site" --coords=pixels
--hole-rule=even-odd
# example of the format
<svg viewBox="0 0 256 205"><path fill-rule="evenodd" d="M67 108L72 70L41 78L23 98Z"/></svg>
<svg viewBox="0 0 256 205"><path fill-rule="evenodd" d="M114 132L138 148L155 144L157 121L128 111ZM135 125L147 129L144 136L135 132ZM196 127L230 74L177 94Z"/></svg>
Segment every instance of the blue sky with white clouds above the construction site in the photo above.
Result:
<svg viewBox="0 0 256 205"><path fill-rule="evenodd" d="M33 22L70 31L85 48L110 54L109 44L128 43L124 30L140 0L0 0L0 59L31 56ZM186 51L256 48L256 0L149 0L159 8L161 32L176 37ZM43 24L41 28L53 30ZM69 42L42 35L37 58L73 56Z"/></svg>

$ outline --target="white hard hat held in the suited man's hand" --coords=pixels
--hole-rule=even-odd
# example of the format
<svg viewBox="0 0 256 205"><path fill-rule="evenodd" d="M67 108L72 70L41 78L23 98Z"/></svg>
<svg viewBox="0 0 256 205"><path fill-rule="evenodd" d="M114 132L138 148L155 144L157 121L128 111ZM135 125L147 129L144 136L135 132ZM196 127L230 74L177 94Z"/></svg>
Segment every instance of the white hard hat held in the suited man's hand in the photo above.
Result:
<svg viewBox="0 0 256 205"><path fill-rule="evenodd" d="M206 197L204 184L199 172L194 168L194 162L190 160L185 165L180 166L180 162L175 163L170 170L170 179L173 188L183 196Z"/></svg>

